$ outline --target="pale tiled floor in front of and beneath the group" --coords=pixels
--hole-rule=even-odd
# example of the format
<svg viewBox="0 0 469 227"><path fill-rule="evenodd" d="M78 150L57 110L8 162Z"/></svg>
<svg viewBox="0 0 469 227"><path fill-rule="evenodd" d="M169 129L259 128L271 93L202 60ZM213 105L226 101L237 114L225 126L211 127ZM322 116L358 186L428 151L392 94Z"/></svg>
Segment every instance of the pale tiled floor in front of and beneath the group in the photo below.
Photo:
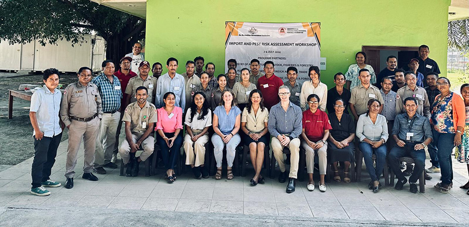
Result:
<svg viewBox="0 0 469 227"><path fill-rule="evenodd" d="M59 155L52 169L53 180L65 184L65 150L67 142L59 147ZM81 152L81 151L80 151ZM52 188L52 194L39 197L30 194L32 158L0 172L0 206L94 207L106 209L145 209L273 216L300 216L316 218L392 220L403 222L467 222L469 195L459 189L468 181L466 165L454 162L455 187L442 194L433 185L438 174L427 181L426 193L412 194L409 185L403 190L384 187L378 193L367 189L366 171L361 183L327 184L327 191L308 191L306 182L297 182L294 193L285 192L286 183L266 179L265 184L252 187L249 183L252 168L246 177L225 178L216 181L196 180L191 173L178 176L174 184L162 179L162 169L156 176L129 178L119 176L119 169L107 169L106 175L97 175L99 181L81 179L83 163L78 159L75 187ZM143 165L142 165L143 166ZM277 170L278 175L278 170ZM225 177L225 176L224 176ZM383 182L384 183L384 182ZM316 185L317 185L316 181Z"/></svg>

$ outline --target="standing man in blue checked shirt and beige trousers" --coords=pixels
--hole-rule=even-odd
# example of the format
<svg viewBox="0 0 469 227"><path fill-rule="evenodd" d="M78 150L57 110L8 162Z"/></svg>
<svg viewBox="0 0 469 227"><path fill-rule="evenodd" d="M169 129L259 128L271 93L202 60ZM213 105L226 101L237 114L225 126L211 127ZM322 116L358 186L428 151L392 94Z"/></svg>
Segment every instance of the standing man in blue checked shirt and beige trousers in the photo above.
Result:
<svg viewBox="0 0 469 227"><path fill-rule="evenodd" d="M122 91L119 79L113 75L115 68L112 60L104 61L101 66L103 67L103 73L91 80L98 87L103 107L103 116L99 122L98 139L96 140L93 172L106 174L103 167L117 168L117 165L112 163L111 159L116 145L117 126L120 121L119 110Z"/></svg>

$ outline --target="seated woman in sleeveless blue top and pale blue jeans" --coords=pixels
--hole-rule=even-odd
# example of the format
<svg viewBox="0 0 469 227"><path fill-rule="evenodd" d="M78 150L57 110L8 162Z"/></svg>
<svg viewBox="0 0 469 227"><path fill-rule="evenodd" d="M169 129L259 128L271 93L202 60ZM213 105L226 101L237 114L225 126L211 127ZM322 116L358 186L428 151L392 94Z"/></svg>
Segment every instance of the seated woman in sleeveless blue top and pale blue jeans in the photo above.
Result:
<svg viewBox="0 0 469 227"><path fill-rule="evenodd" d="M215 179L222 179L223 149L227 148L228 171L227 179L233 179L233 161L235 160L236 147L241 142L238 134L241 123L241 111L236 106L233 91L225 89L222 92L220 106L213 111L212 144L214 147L215 161L217 162L217 173Z"/></svg>

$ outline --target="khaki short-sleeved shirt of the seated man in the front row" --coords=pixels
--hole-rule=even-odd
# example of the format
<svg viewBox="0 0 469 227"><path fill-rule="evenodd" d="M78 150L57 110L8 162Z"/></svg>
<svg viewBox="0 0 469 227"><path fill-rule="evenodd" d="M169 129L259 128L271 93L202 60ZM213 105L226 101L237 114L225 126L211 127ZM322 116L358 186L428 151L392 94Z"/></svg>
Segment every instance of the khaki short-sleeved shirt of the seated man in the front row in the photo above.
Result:
<svg viewBox="0 0 469 227"><path fill-rule="evenodd" d="M140 108L137 102L133 102L125 108L122 121L130 122L130 132L136 136L142 136L149 127L149 123L157 121L156 107L153 103L146 102ZM145 128L143 127L145 122Z"/></svg>

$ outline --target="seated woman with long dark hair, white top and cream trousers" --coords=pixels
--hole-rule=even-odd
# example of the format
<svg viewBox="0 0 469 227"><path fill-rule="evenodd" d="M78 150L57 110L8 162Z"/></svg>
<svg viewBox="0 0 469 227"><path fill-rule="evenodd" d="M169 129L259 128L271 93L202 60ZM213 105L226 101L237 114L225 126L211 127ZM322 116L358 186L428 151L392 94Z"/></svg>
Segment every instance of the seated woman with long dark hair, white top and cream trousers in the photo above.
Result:
<svg viewBox="0 0 469 227"><path fill-rule="evenodd" d="M204 146L208 142L208 127L212 125L212 112L203 92L195 92L192 100L194 101L187 110L185 119L186 136L183 146L186 151L186 165L191 165L196 179L208 178L208 169L204 165Z"/></svg>

